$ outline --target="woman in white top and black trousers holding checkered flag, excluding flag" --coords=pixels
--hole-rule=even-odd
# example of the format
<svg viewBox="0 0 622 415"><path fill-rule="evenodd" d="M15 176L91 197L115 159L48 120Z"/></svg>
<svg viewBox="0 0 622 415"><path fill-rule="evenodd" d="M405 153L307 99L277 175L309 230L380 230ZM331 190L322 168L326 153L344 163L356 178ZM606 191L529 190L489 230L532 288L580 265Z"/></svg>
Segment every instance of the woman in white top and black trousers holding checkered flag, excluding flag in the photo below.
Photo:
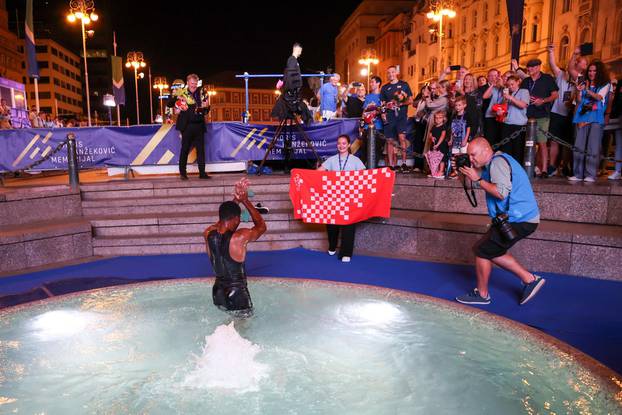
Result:
<svg viewBox="0 0 622 415"><path fill-rule="evenodd" d="M350 171L364 170L365 165L354 154L350 154L350 136L342 134L337 137L337 154L326 159L318 168L320 171ZM328 233L328 255L337 253L337 242L341 231L341 246L339 258L341 262L350 262L354 250L354 231L356 224L350 225L326 225Z"/></svg>

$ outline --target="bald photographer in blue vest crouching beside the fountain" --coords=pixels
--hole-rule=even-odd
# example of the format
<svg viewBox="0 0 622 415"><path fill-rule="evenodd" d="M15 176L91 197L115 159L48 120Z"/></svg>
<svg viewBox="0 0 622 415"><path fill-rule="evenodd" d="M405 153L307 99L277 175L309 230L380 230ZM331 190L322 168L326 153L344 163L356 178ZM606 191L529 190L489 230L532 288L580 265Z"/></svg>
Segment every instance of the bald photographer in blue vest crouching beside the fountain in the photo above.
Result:
<svg viewBox="0 0 622 415"><path fill-rule="evenodd" d="M494 152L484 137L473 139L467 154L456 157L460 174L486 192L492 225L475 245L477 288L456 297L463 304L490 304L488 280L495 264L523 282L519 304L531 300L544 285L544 278L527 271L508 250L532 234L540 223L540 211L529 178L512 156Z"/></svg>

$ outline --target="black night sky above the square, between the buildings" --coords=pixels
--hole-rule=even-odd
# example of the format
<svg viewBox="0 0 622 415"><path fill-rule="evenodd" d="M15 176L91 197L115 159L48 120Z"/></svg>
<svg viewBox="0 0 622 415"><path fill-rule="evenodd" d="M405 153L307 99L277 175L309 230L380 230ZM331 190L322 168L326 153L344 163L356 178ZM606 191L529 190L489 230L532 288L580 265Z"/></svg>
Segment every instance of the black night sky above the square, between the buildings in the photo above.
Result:
<svg viewBox="0 0 622 415"><path fill-rule="evenodd" d="M201 77L223 70L281 72L298 41L304 47L303 71L320 71L333 67L335 37L359 3L95 0L100 19L87 47L112 49L115 30L119 55L142 51L152 74L170 81L189 72ZM48 31L78 53L79 26L66 22L68 4L34 0L35 31ZM25 0L7 1L11 28L16 8L23 20Z"/></svg>

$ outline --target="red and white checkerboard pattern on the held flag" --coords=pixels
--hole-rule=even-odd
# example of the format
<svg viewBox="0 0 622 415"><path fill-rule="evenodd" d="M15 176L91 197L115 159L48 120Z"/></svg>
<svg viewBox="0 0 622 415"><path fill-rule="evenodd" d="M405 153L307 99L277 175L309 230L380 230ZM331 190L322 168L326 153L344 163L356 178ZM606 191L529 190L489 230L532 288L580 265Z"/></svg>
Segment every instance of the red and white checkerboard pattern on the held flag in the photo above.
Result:
<svg viewBox="0 0 622 415"><path fill-rule="evenodd" d="M353 210L363 208L365 195L376 193L378 175L391 176L387 168L335 173L335 181L322 176L321 192L310 188L311 204L303 203L297 211L305 222L334 225L339 216L345 221L349 220Z"/></svg>

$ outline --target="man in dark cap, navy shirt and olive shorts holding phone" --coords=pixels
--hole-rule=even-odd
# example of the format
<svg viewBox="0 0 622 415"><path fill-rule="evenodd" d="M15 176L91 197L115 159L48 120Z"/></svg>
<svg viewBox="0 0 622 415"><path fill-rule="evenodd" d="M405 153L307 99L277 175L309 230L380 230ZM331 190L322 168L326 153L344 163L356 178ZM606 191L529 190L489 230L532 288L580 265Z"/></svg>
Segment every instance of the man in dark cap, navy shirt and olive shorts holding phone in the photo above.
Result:
<svg viewBox="0 0 622 415"><path fill-rule="evenodd" d="M548 177L547 169L549 165L549 152L547 148L548 138L544 134L549 131L550 112L552 103L559 96L559 87L555 83L555 79L541 71L542 61L540 59L531 59L527 62L528 78L521 83L521 88L529 91L529 106L527 107L527 117L535 118L538 124L538 133L536 141L538 143L538 155L540 167L540 176Z"/></svg>

